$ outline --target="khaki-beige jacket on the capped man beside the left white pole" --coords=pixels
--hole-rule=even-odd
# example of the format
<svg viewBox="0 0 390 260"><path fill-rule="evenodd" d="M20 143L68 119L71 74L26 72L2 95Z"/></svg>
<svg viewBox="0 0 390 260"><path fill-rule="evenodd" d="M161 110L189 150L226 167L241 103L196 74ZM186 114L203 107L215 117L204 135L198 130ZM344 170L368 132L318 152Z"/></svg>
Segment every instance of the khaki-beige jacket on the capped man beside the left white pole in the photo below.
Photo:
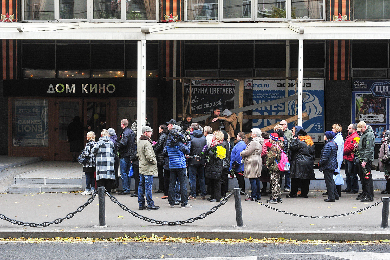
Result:
<svg viewBox="0 0 390 260"><path fill-rule="evenodd" d="M157 174L157 160L150 139L142 135L137 144L137 157L140 160L139 173L143 175Z"/></svg>

